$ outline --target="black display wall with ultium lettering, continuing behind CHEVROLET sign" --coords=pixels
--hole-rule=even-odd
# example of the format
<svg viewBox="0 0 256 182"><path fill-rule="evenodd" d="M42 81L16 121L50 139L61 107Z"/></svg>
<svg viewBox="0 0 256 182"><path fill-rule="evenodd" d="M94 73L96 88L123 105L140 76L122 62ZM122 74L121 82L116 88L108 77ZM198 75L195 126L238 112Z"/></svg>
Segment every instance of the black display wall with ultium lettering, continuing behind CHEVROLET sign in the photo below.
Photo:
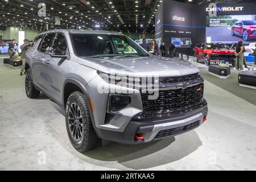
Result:
<svg viewBox="0 0 256 182"><path fill-rule="evenodd" d="M205 42L206 10L209 5L195 5L164 0L155 15L155 38L170 44L171 38L191 39L191 46L177 47L177 52L192 55L197 42ZM255 3L218 4L217 7L243 7L242 11L217 11L219 15L255 15ZM221 34L221 32L216 32ZM256 41L256 40L255 40ZM160 42L160 41L159 41Z"/></svg>

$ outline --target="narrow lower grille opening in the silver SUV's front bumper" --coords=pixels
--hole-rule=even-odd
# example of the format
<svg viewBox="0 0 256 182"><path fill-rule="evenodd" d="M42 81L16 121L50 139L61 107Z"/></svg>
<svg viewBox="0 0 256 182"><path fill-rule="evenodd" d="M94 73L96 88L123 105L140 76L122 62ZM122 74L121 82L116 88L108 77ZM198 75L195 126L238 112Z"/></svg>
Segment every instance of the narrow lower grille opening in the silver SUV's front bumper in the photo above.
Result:
<svg viewBox="0 0 256 182"><path fill-rule="evenodd" d="M187 126L182 127L176 127L175 129L169 129L169 130L163 130L160 131L155 138L163 138L163 137L169 137L172 135L177 135L180 133L183 133L184 131L189 131L195 129L197 126L199 126L200 121L193 122Z"/></svg>

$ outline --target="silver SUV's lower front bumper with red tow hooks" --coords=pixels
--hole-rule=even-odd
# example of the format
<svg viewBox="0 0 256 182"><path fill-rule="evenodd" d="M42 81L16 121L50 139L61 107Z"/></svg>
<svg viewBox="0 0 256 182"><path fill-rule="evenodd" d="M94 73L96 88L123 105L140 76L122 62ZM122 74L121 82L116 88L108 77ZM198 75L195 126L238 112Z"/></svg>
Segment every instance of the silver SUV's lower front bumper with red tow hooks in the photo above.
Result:
<svg viewBox="0 0 256 182"><path fill-rule="evenodd" d="M131 121L125 131L96 129L99 138L126 144L139 144L152 140L174 137L196 129L206 121L208 107L204 106L186 114L174 115L169 119L158 121Z"/></svg>

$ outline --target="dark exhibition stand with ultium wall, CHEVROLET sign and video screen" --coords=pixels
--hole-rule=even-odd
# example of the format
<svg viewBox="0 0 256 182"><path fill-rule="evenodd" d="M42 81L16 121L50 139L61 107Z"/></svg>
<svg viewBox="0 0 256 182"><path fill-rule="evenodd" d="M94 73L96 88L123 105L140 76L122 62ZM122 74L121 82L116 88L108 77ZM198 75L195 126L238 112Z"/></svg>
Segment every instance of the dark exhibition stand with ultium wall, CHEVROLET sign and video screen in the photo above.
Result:
<svg viewBox="0 0 256 182"><path fill-rule="evenodd" d="M225 43L232 47L243 41L245 45L255 45L255 7L256 2L212 7L209 4L163 1L155 14L155 38L159 45L173 42L177 52L187 55L192 55L193 48L199 43ZM216 15L213 10L216 10ZM249 24L249 30L239 24L241 21ZM240 34L241 28L243 32ZM247 60L253 58L248 57Z"/></svg>

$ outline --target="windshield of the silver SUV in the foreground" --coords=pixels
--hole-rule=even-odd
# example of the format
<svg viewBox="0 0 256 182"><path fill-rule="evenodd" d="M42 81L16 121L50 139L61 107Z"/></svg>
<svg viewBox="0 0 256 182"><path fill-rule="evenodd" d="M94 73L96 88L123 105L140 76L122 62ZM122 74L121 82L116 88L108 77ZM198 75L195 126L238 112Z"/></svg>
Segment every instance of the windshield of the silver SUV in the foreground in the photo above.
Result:
<svg viewBox="0 0 256 182"><path fill-rule="evenodd" d="M147 56L123 35L71 34L77 56Z"/></svg>

